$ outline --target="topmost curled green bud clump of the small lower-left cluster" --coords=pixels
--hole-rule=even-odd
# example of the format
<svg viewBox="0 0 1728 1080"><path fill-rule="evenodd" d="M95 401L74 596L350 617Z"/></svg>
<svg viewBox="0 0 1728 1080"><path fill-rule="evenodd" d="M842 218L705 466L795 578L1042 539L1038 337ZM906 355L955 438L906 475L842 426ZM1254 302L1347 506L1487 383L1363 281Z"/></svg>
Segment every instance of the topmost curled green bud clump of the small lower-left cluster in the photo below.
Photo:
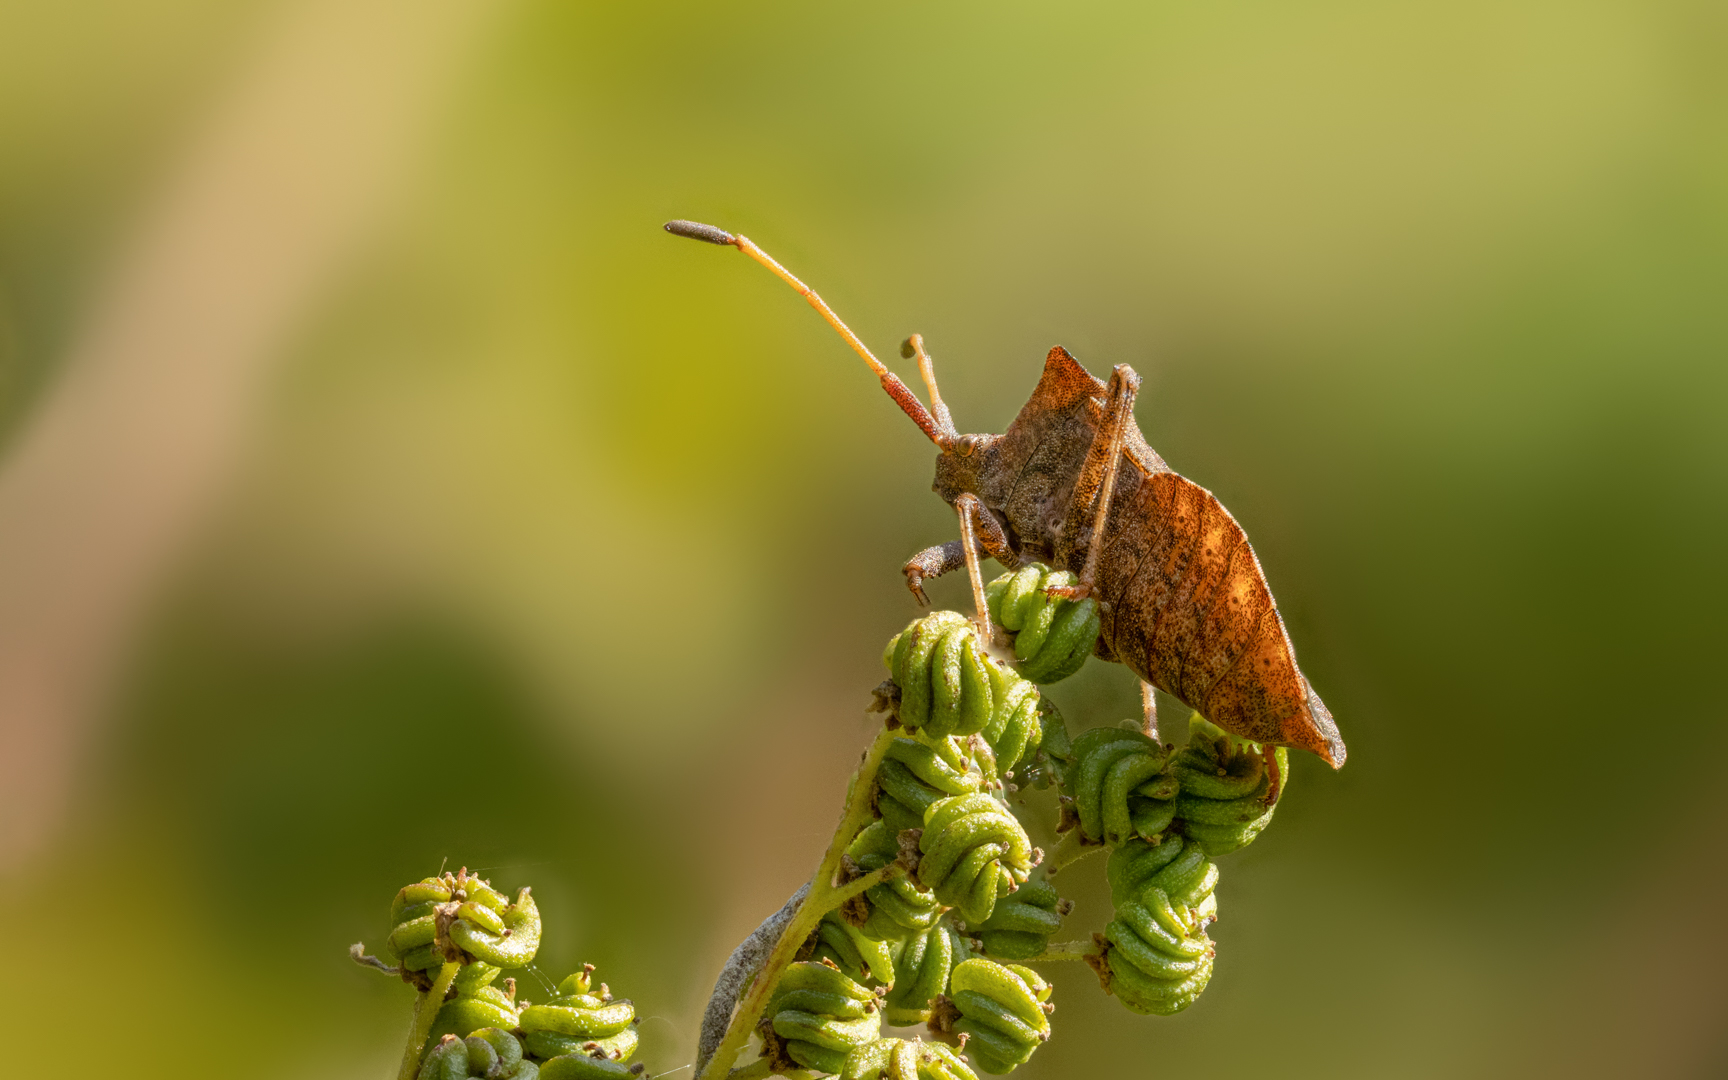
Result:
<svg viewBox="0 0 1728 1080"><path fill-rule="evenodd" d="M430 976L415 973L446 962L530 964L541 937L539 909L525 886L511 904L467 869L425 878L397 892L391 926L387 947L404 976L422 988L430 985Z"/></svg>

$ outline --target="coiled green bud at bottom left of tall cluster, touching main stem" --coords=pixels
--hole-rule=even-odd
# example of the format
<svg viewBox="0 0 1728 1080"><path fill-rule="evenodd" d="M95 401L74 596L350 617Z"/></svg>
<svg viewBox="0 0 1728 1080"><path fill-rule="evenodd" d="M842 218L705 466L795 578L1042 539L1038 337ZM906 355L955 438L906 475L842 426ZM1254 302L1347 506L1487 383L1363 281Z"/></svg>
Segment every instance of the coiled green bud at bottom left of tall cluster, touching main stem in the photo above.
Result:
<svg viewBox="0 0 1728 1080"><path fill-rule="evenodd" d="M881 1037L876 992L840 968L790 964L764 1011L762 1056L776 1071L809 1068L838 1073L847 1056Z"/></svg>

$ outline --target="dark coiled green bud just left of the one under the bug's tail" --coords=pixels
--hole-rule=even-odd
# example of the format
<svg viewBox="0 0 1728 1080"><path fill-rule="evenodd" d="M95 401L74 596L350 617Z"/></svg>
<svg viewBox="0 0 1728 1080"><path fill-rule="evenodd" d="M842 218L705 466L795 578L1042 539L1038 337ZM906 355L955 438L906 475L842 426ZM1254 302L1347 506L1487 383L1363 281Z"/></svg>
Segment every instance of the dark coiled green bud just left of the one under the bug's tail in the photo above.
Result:
<svg viewBox="0 0 1728 1080"><path fill-rule="evenodd" d="M1154 740L1125 727L1094 727L1073 741L1064 781L1087 843L1153 838L1177 816L1177 779Z"/></svg>

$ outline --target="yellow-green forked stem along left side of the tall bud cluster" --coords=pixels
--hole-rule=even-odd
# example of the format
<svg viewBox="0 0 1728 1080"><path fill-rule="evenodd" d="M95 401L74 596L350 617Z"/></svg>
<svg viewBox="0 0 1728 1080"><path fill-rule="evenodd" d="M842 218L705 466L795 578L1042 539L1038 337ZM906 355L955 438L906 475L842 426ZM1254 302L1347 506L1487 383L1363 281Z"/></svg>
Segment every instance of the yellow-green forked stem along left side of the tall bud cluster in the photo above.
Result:
<svg viewBox="0 0 1728 1080"><path fill-rule="evenodd" d="M881 769L883 757L893 743L895 731L883 726L881 733L876 734L876 741L864 753L864 762L852 774L852 783L847 786L847 809L840 816L840 828L835 829L835 838L828 843L823 862L816 867L816 876L810 878L810 893L798 907L798 914L781 931L779 940L774 942L774 950L769 952L762 969L738 1002L738 1011L733 1013L733 1021L726 1028L726 1039L721 1040L721 1045L708 1058L707 1066L696 1080L724 1080L731 1075L733 1063L738 1061L738 1054L750 1042L750 1032L755 1030L757 1020L762 1018L762 1009L767 1006L774 985L779 983L781 971L798 956L798 949L816 931L816 924L823 921L823 916L871 885L893 876L892 871L897 864L873 871L857 881L835 885L835 878L840 873L840 859L847 854L847 845L876 817L876 812L871 809L874 802L873 795L876 793L876 772Z"/></svg>

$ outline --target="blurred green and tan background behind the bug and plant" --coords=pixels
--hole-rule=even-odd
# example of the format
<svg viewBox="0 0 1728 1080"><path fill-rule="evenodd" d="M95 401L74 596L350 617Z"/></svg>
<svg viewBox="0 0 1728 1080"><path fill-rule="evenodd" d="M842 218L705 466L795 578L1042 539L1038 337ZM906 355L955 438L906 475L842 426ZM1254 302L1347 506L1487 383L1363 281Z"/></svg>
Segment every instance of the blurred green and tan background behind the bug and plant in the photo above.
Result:
<svg viewBox="0 0 1728 1080"><path fill-rule="evenodd" d="M698 218L962 430L1132 363L1350 743L1028 1080L1728 1073L1725 131L1709 0L0 2L5 1013L387 1077L448 861L689 1061L954 530Z"/></svg>

